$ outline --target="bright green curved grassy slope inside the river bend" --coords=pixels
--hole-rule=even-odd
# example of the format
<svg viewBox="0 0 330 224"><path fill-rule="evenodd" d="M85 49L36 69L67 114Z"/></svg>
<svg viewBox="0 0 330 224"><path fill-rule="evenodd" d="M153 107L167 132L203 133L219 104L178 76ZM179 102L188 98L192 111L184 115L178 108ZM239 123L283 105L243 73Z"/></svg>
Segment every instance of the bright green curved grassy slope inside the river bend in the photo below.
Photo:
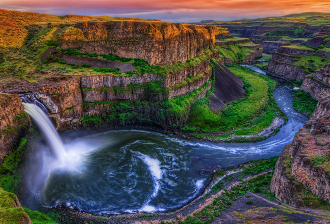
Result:
<svg viewBox="0 0 330 224"><path fill-rule="evenodd" d="M272 95L275 80L243 66L231 64L228 68L244 81L246 96L228 103L218 113L209 108L207 96L197 99L183 129L223 132L220 137L254 134L269 126L276 116L284 116Z"/></svg>

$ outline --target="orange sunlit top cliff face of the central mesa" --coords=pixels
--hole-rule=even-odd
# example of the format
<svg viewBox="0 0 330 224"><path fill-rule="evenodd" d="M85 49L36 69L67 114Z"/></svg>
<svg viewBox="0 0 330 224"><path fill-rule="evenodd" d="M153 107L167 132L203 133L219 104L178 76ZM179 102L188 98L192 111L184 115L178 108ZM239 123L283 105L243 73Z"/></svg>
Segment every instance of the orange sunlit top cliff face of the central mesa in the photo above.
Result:
<svg viewBox="0 0 330 224"><path fill-rule="evenodd" d="M82 22L58 37L61 48L174 64L214 46L216 26L170 22Z"/></svg>

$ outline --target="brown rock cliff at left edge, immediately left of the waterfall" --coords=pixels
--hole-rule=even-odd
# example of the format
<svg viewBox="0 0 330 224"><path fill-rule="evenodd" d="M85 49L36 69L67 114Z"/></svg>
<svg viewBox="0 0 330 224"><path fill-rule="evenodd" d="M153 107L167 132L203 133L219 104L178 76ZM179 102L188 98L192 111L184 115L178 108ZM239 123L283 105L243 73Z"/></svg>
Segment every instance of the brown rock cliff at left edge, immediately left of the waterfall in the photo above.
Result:
<svg viewBox="0 0 330 224"><path fill-rule="evenodd" d="M0 93L0 163L16 147L30 125L17 94Z"/></svg>

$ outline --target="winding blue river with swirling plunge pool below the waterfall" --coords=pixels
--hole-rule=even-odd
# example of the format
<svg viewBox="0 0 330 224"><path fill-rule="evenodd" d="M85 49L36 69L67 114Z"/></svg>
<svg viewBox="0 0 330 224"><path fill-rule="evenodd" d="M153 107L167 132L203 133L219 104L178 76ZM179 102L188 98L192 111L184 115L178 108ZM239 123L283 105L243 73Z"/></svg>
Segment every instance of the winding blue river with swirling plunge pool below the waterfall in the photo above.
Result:
<svg viewBox="0 0 330 224"><path fill-rule="evenodd" d="M251 67L253 70L263 71ZM265 73L264 73L265 74ZM194 198L217 167L280 154L307 121L292 108L292 85L280 81L273 95L288 117L280 131L254 143L190 141L144 130L62 135L65 165L37 145L27 175L28 207L65 204L97 213L164 211ZM33 197L33 200L31 199Z"/></svg>

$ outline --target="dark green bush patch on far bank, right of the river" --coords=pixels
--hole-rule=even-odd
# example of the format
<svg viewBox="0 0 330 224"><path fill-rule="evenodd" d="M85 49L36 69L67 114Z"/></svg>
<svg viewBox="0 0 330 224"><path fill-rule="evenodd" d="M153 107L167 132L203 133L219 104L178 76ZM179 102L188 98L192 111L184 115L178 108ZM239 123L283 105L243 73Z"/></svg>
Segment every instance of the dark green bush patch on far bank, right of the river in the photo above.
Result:
<svg viewBox="0 0 330 224"><path fill-rule="evenodd" d="M298 91L294 93L292 103L295 111L309 118L316 108L317 100L311 97L308 92Z"/></svg>

